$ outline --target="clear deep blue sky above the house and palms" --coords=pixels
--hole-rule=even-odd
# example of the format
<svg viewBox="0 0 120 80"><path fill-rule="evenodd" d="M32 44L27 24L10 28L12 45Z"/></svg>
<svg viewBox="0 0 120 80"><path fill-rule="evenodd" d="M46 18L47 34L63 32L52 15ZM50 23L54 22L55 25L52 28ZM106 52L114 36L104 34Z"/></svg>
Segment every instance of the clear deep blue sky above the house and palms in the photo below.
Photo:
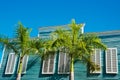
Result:
<svg viewBox="0 0 120 80"><path fill-rule="evenodd" d="M120 30L120 0L0 0L0 34L13 37L18 21L32 28L86 23L85 32Z"/></svg>

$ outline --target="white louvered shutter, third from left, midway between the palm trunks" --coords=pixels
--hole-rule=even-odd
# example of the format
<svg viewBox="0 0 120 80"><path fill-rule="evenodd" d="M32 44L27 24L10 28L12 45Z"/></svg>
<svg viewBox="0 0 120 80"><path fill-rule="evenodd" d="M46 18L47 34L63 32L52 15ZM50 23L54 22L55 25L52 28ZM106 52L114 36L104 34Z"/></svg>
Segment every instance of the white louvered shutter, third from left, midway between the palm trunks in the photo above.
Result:
<svg viewBox="0 0 120 80"><path fill-rule="evenodd" d="M49 55L48 58L43 60L42 74L53 74L55 64L55 55Z"/></svg>

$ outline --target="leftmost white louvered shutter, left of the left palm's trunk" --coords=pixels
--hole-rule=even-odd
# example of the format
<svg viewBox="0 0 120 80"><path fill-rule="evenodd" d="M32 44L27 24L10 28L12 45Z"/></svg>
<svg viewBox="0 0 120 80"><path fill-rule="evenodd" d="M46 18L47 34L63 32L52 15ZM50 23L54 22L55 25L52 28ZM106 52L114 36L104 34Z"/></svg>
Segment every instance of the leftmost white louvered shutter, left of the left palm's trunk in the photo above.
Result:
<svg viewBox="0 0 120 80"><path fill-rule="evenodd" d="M13 74L15 70L17 56L15 53L9 53L5 74Z"/></svg>

